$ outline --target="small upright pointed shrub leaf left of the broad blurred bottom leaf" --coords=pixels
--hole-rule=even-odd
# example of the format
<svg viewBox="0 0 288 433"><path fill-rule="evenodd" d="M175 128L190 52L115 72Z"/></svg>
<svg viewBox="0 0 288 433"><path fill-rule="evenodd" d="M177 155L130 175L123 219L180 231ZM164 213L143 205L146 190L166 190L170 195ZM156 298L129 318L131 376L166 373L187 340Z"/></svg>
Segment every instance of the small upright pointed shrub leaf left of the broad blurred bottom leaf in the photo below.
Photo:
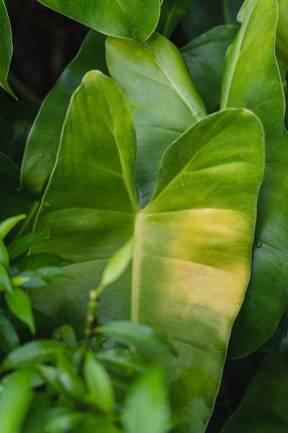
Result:
<svg viewBox="0 0 288 433"><path fill-rule="evenodd" d="M84 362L84 378L89 391L89 403L103 412L113 412L114 392L111 380L104 367L90 352L86 354Z"/></svg>

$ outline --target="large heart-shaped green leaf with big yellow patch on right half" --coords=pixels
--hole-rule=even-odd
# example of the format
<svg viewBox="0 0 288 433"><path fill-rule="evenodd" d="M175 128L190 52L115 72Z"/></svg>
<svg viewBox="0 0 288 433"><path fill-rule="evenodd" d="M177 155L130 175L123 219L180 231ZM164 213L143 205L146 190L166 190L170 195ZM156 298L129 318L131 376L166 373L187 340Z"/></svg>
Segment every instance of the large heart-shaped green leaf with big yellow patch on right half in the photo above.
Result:
<svg viewBox="0 0 288 433"><path fill-rule="evenodd" d="M75 261L67 267L75 281L31 291L33 303L79 337L88 291L135 236L133 263L102 293L97 317L150 323L173 340L169 382L177 415L189 415L184 431L207 425L249 281L263 148L249 111L204 118L167 149L153 199L140 209L131 111L117 84L91 71L70 102L37 218L36 230L52 234L39 249Z"/></svg>

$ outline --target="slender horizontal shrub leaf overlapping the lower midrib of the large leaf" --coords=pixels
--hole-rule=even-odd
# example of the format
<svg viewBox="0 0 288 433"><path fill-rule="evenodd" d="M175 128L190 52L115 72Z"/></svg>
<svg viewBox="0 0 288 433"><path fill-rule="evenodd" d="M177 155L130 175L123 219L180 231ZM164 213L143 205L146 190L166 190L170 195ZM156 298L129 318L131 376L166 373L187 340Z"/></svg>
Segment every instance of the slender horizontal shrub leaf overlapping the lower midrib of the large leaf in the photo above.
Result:
<svg viewBox="0 0 288 433"><path fill-rule="evenodd" d="M160 333L141 323L129 320L117 320L105 326L99 326L97 333L102 333L113 340L133 346L145 353L174 353L171 342Z"/></svg>

